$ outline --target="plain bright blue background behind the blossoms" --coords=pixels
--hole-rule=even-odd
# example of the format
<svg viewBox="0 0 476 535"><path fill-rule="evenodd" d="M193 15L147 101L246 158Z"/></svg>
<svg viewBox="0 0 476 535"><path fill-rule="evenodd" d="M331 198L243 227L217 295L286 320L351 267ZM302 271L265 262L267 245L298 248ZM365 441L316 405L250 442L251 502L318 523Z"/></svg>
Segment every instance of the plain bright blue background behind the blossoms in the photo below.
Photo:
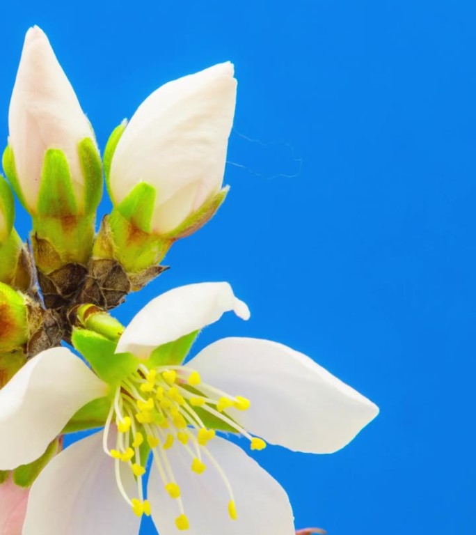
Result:
<svg viewBox="0 0 476 535"><path fill-rule="evenodd" d="M102 148L160 84L235 63L228 201L117 314L127 322L168 288L228 280L253 317L229 315L200 346L232 334L287 343L381 407L333 456L259 454L296 527L476 532L475 16L463 0L3 6L3 140L32 24Z"/></svg>

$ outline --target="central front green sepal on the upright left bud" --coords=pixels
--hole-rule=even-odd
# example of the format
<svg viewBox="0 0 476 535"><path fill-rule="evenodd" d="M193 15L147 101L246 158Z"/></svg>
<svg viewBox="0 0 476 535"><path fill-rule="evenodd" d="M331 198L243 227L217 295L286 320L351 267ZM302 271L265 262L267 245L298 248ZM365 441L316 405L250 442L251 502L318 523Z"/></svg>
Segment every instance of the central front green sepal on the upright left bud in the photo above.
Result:
<svg viewBox="0 0 476 535"><path fill-rule="evenodd" d="M55 218L79 213L68 158L58 148L49 148L45 153L37 212Z"/></svg>

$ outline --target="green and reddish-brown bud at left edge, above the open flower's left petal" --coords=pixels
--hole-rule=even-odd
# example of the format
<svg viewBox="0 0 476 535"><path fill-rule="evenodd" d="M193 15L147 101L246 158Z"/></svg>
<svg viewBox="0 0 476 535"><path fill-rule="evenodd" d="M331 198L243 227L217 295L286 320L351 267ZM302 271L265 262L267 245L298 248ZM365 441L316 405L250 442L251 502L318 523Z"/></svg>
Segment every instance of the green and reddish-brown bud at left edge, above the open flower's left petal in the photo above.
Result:
<svg viewBox="0 0 476 535"><path fill-rule="evenodd" d="M21 293L0 282L0 354L22 348L28 341L28 307Z"/></svg>

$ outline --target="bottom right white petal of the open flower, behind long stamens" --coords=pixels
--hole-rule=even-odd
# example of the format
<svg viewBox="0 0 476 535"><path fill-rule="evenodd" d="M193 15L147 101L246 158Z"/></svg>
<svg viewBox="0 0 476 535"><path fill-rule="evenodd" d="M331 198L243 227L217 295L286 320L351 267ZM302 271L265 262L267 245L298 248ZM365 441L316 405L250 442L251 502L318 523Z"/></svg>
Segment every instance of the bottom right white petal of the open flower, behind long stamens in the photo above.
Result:
<svg viewBox="0 0 476 535"><path fill-rule="evenodd" d="M228 515L230 495L212 463L204 455L205 472L192 472L190 456L176 444L167 453L189 519L187 535L294 535L292 509L280 484L228 440L216 437L207 448L230 481L238 518L231 520ZM153 465L148 498L159 533L179 535L177 500L166 493Z"/></svg>

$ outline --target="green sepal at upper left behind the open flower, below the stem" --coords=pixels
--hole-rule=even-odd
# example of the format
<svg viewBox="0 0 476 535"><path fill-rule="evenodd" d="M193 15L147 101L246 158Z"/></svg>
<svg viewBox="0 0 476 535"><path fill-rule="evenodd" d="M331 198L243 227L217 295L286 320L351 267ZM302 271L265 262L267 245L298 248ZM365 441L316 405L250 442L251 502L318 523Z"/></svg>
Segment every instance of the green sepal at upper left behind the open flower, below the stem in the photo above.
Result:
<svg viewBox="0 0 476 535"><path fill-rule="evenodd" d="M116 354L116 342L87 329L74 329L72 344L109 385L117 385L141 364L132 353Z"/></svg>

